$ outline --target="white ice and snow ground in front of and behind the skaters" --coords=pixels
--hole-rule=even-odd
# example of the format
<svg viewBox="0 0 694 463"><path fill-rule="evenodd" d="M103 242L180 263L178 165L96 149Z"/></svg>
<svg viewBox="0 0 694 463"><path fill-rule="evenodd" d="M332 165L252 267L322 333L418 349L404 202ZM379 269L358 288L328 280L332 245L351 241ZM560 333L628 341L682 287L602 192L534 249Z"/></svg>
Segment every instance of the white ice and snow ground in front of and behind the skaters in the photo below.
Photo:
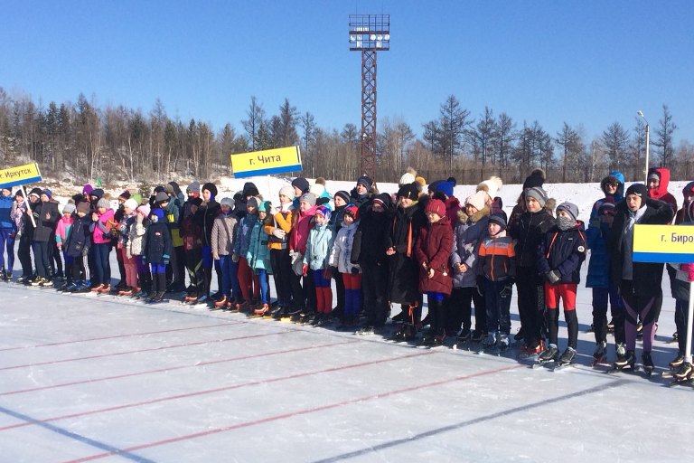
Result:
<svg viewBox="0 0 694 463"><path fill-rule="evenodd" d="M244 183L233 182L220 196ZM277 185L256 182L277 195ZM679 201L683 184L670 189ZM331 192L351 186L328 183ZM600 196L596 184L547 189L577 203L584 220ZM507 211L520 191L504 185ZM589 366L583 283L578 364L559 373L178 302L3 284L0 462L684 461L694 396L660 376L677 350L667 277L663 292L656 372L646 379ZM511 310L515 332L515 300ZM563 350L563 323L559 338Z"/></svg>

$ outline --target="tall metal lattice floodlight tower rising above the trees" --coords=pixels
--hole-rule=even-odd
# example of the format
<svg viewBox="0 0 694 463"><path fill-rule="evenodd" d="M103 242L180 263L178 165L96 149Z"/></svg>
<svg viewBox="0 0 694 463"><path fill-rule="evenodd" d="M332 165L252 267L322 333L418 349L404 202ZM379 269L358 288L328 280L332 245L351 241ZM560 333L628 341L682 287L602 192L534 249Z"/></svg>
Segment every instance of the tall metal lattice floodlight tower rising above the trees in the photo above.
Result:
<svg viewBox="0 0 694 463"><path fill-rule="evenodd" d="M361 174L376 174L376 52L390 50L390 14L350 14L350 51L361 52Z"/></svg>

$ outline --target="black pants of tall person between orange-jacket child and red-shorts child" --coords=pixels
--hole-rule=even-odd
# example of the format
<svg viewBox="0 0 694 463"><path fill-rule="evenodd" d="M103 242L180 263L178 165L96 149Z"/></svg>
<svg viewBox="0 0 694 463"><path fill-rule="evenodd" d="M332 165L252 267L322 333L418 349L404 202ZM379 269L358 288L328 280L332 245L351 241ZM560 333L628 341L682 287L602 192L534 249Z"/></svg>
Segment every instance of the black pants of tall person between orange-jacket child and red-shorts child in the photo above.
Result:
<svg viewBox="0 0 694 463"><path fill-rule="evenodd" d="M534 267L522 267L516 275L521 329L529 347L539 345L544 325L544 288L537 273Z"/></svg>

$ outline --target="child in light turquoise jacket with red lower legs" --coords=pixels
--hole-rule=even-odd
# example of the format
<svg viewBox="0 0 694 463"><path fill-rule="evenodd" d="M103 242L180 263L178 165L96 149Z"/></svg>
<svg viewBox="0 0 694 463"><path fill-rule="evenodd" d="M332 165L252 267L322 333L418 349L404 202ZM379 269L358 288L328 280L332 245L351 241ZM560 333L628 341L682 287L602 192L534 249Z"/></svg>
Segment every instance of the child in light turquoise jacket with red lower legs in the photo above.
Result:
<svg viewBox="0 0 694 463"><path fill-rule="evenodd" d="M330 249L333 246L334 232L328 226L330 209L318 206L315 209L315 225L308 233L304 254L304 275L313 270L316 314L313 325L322 325L333 310L333 289L330 287Z"/></svg>

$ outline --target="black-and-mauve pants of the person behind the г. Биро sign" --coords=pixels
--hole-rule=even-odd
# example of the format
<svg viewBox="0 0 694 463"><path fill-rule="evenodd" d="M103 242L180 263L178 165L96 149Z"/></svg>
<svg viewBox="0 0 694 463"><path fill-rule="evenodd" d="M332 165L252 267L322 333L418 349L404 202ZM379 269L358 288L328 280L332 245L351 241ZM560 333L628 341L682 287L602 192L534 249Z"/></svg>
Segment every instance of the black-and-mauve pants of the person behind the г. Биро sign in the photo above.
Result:
<svg viewBox="0 0 694 463"><path fill-rule="evenodd" d="M635 294L633 281L623 279L620 288L624 301L624 335L626 350L636 350L636 324L639 317L643 324L643 352L651 352L655 339L655 322L661 313L662 290L655 294L643 296Z"/></svg>

